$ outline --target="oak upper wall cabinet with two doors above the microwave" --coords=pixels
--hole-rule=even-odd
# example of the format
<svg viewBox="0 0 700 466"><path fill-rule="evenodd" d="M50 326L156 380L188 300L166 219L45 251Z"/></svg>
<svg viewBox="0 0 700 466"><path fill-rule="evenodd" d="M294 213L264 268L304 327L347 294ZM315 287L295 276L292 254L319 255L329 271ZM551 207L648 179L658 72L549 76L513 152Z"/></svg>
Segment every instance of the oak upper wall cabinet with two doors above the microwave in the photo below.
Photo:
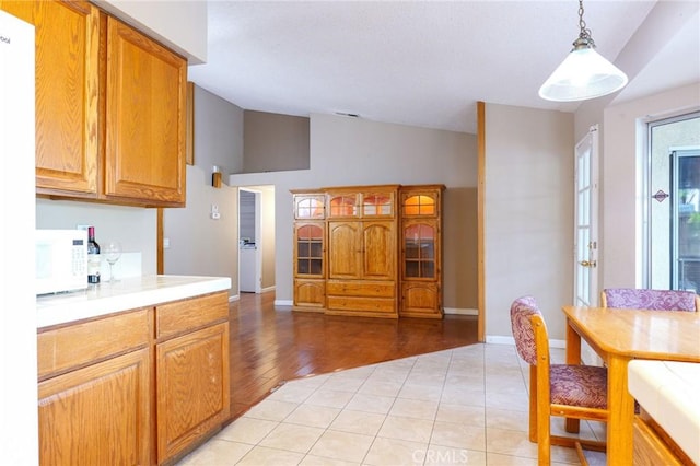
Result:
<svg viewBox="0 0 700 466"><path fill-rule="evenodd" d="M36 193L185 205L187 61L86 1L5 1L34 24Z"/></svg>

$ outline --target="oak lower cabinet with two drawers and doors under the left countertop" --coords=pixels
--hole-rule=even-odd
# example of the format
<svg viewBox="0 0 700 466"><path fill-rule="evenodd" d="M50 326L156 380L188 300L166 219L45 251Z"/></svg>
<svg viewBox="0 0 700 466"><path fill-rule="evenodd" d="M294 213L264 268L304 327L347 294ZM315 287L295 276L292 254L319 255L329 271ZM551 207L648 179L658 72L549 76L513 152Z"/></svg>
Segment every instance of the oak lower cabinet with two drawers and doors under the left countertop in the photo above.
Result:
<svg viewBox="0 0 700 466"><path fill-rule="evenodd" d="M172 464L230 416L226 291L40 329L42 465Z"/></svg>

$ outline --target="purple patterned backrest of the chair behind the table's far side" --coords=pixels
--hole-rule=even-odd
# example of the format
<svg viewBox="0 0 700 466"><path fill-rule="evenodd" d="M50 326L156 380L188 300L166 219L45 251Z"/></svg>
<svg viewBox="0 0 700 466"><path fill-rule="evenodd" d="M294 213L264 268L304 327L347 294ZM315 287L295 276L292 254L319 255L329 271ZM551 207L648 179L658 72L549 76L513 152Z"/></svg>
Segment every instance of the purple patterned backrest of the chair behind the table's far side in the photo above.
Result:
<svg viewBox="0 0 700 466"><path fill-rule="evenodd" d="M614 308L650 311L698 311L698 295L692 291L649 290L643 288L606 288L600 305Z"/></svg>

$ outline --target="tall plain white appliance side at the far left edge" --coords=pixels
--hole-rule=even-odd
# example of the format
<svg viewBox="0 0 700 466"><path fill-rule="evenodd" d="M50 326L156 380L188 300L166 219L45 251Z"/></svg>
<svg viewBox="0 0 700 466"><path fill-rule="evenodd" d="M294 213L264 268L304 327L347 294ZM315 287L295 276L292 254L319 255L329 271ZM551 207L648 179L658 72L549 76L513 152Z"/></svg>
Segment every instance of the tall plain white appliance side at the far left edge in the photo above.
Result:
<svg viewBox="0 0 700 466"><path fill-rule="evenodd" d="M39 462L34 53L34 26L0 11L0 458L9 465Z"/></svg>

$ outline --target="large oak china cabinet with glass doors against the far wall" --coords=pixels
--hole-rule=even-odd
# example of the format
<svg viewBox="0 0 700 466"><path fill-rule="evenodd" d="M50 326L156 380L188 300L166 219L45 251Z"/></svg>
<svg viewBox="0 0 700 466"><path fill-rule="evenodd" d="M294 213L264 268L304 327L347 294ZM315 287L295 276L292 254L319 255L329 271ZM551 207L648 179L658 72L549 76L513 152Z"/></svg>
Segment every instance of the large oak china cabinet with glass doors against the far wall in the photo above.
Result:
<svg viewBox="0 0 700 466"><path fill-rule="evenodd" d="M441 318L443 189L377 185L293 190L293 308Z"/></svg>

